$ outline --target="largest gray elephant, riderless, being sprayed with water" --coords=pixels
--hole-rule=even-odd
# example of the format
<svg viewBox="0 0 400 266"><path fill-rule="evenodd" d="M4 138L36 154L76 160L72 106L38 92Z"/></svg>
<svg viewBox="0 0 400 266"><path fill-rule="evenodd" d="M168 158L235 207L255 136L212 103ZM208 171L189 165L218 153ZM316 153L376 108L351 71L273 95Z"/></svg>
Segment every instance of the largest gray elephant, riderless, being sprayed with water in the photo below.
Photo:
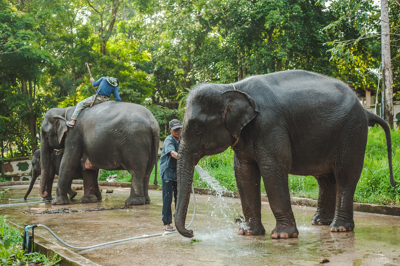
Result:
<svg viewBox="0 0 400 266"><path fill-rule="evenodd" d="M360 178L368 126L379 124L388 146L390 129L366 111L343 82L303 70L252 76L234 84L200 84L187 98L177 163L175 225L184 227L194 166L229 146L246 228L240 235L265 234L261 223L261 177L276 227L271 238L298 236L290 205L288 174L314 176L319 185L314 225L332 232L354 229L353 197Z"/></svg>

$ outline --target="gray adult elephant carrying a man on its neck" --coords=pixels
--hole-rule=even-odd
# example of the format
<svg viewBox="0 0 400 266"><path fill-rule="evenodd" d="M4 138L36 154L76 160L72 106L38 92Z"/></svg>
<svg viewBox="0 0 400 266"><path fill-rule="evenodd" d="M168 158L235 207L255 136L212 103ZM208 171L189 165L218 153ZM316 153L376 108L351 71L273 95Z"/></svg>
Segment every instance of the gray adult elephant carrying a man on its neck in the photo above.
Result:
<svg viewBox="0 0 400 266"><path fill-rule="evenodd" d="M52 204L68 204L67 191L73 171L82 167L84 196L82 203L96 202L98 190L96 171L127 170L132 176L130 196L126 205L150 202L148 182L154 165L157 175L160 129L152 113L138 104L108 101L85 108L73 128L66 118L75 106L51 108L46 112L41 127L40 196L46 198L45 184L49 177L53 149L64 148L60 164L56 197Z"/></svg>

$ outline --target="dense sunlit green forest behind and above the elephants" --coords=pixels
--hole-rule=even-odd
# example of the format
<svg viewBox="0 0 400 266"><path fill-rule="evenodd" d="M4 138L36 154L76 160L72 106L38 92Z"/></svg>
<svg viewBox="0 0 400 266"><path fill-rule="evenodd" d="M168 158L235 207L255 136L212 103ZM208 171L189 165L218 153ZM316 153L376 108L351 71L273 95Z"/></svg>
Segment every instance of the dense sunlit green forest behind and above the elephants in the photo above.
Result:
<svg viewBox="0 0 400 266"><path fill-rule="evenodd" d="M0 0L0 152L28 156L52 107L120 80L124 102L160 123L181 118L198 82L304 69L376 88L380 5L354 0ZM394 99L400 95L400 6L389 1ZM178 104L179 108L178 107Z"/></svg>

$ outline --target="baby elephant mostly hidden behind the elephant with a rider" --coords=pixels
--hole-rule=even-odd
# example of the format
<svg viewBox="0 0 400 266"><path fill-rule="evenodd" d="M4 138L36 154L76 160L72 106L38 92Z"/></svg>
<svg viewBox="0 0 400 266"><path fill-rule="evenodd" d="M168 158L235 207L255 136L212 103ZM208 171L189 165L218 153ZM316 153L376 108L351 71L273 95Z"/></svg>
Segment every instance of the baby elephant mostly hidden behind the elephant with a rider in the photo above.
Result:
<svg viewBox="0 0 400 266"><path fill-rule="evenodd" d="M43 198L43 200L52 200L51 196L51 191L52 191L52 186L53 186L53 181L54 181L54 176L60 173L60 164L61 164L61 159L62 155L64 154L64 151L56 151L51 154L51 161L50 161L50 169L49 169L49 177L46 182L46 192L47 192L47 198ZM30 180L29 188L26 191L26 194L24 196L24 200L28 198L30 192L32 191L33 185L35 184L36 178L40 176L40 173L42 172L42 167L40 166L40 149L35 150L35 152L32 155L32 178ZM82 176L82 167L78 166L75 170L74 173L74 179L80 179L83 178ZM71 188L68 190L68 195L70 196L70 200L75 198L77 192L75 190L72 190ZM98 190L96 191L96 196L98 200L101 200L101 191Z"/></svg>

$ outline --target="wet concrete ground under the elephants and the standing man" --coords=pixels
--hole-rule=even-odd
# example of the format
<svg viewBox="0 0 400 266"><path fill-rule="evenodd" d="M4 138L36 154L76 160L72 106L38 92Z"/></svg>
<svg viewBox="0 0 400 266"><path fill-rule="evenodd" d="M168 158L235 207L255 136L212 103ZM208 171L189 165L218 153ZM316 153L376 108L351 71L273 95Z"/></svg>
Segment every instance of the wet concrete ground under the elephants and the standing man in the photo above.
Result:
<svg viewBox="0 0 400 266"><path fill-rule="evenodd" d="M8 202L8 198L23 198L27 187L11 186L11 194L0 204L16 203ZM0 190L5 188L0 186ZM94 204L80 204L79 198L83 196L80 190L69 205L40 203L3 207L0 214L6 214L10 222L21 226L44 224L73 246L163 232L160 190L149 190L150 204L128 209L26 214L36 211L31 208L85 210L124 206L130 189L103 187L103 191L107 188L114 189L114 193L103 193L101 202ZM37 196L38 185L35 185L30 197ZM324 265L400 265L400 217L354 212L353 232L332 233L329 226L311 226L316 208L292 206L292 209L299 237L286 240L272 240L269 236L275 219L268 202L262 203L266 236L239 236L234 216L241 213L240 200L206 195L196 195L196 216L190 227L196 242L175 233L74 250L66 248L43 228L36 228L34 232L35 241L81 265L321 265L324 259L329 260ZM193 198L186 224L192 213Z"/></svg>

